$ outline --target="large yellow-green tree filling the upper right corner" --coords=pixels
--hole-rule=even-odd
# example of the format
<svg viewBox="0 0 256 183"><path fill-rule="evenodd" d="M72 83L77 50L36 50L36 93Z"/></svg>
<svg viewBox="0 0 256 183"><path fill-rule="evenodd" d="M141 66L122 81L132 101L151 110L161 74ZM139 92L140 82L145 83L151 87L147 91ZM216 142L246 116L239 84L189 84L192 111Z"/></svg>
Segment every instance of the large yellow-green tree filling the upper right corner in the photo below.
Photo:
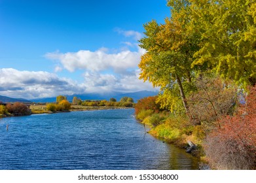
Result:
<svg viewBox="0 0 256 183"><path fill-rule="evenodd" d="M181 3L171 0L169 5ZM207 68L247 86L256 83L256 2L250 0L188 0L190 33L198 33L200 48L192 66Z"/></svg>

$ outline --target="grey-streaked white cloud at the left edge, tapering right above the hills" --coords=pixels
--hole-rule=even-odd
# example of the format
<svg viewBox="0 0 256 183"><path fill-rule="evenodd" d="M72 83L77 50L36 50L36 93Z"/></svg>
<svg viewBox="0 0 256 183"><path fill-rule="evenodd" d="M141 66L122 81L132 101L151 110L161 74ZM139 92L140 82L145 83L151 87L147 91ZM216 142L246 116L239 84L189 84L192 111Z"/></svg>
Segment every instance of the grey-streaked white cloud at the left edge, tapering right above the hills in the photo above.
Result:
<svg viewBox="0 0 256 183"><path fill-rule="evenodd" d="M0 69L0 95L33 99L84 92L84 86L43 71Z"/></svg>

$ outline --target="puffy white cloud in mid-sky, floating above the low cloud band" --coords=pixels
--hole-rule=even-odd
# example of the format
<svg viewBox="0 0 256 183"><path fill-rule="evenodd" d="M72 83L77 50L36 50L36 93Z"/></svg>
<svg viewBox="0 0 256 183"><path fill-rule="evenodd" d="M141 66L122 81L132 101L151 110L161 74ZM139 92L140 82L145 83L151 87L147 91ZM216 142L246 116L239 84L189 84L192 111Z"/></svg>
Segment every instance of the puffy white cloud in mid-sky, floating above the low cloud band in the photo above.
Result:
<svg viewBox="0 0 256 183"><path fill-rule="evenodd" d="M115 54L108 54L107 50L100 49L92 52L90 50L79 50L79 52L52 52L45 55L48 59L60 61L67 71L74 72L77 69L98 72L113 69L122 73L126 69L134 69L139 63L141 53L124 50Z"/></svg>

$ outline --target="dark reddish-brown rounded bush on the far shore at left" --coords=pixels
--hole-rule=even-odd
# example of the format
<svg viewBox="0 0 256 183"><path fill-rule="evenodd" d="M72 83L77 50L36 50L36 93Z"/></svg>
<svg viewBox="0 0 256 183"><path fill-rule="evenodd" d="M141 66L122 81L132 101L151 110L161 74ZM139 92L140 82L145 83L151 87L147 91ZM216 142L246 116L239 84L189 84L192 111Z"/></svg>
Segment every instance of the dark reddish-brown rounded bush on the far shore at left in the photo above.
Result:
<svg viewBox="0 0 256 183"><path fill-rule="evenodd" d="M24 103L14 103L12 104L7 104L7 110L11 114L14 114L14 116L22 116L22 115L30 115L31 114L31 109L27 107L27 105L24 105Z"/></svg>

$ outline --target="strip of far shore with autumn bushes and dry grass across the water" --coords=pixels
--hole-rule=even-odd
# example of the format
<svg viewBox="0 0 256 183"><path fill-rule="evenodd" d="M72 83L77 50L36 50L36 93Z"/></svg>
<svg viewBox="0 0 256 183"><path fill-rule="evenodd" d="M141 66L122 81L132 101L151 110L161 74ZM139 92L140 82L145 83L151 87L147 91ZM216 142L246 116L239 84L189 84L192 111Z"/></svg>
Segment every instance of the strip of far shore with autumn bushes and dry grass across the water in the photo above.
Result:
<svg viewBox="0 0 256 183"><path fill-rule="evenodd" d="M107 100L85 100L73 97L72 103L63 95L56 97L56 103L0 103L0 118L10 116L26 116L31 114L52 114L55 112L71 112L82 110L109 110L134 107L134 99L122 97L120 101L115 98Z"/></svg>

